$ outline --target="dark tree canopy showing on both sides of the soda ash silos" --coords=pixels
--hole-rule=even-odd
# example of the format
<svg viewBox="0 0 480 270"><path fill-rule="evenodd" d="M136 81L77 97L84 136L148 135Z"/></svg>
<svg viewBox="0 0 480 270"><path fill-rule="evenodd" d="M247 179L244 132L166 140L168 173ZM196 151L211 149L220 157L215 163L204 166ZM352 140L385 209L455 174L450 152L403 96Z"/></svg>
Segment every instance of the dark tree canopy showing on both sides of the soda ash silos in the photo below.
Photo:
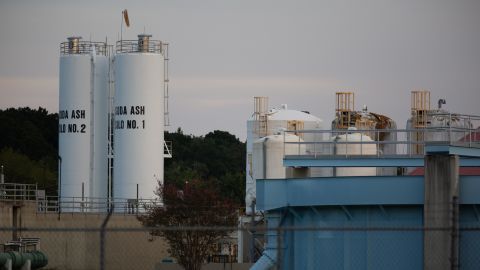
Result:
<svg viewBox="0 0 480 270"><path fill-rule="evenodd" d="M243 203L245 143L215 130L205 136L185 135L179 128L165 132L173 158L165 159L165 182L182 188L185 181L204 179L222 197ZM44 108L0 110L0 165L8 182L34 184L57 192L58 114Z"/></svg>

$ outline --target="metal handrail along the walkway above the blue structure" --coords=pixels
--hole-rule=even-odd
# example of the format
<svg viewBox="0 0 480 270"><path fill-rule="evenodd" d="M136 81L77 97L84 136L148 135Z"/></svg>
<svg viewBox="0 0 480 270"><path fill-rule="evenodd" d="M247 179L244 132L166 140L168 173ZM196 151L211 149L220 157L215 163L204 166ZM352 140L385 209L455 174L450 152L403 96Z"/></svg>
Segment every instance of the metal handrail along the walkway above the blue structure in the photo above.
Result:
<svg viewBox="0 0 480 270"><path fill-rule="evenodd" d="M297 135L302 140L284 140L284 157L413 157L423 156L427 144L480 148L480 128L472 126L422 129L287 130L285 134ZM352 134L359 135L353 138Z"/></svg>

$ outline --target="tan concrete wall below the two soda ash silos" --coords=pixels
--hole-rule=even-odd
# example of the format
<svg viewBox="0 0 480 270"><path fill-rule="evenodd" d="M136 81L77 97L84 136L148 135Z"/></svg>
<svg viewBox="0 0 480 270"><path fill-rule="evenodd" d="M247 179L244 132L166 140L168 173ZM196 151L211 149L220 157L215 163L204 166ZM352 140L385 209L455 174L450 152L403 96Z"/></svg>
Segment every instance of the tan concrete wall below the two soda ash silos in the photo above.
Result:
<svg viewBox="0 0 480 270"><path fill-rule="evenodd" d="M18 237L39 237L40 249L49 257L48 269L99 269L100 228L104 215L87 213L37 213L35 203L17 208ZM13 207L0 202L0 227L12 227ZM141 228L133 215L113 215L108 228ZM48 230L37 230L42 228ZM80 230L75 230L80 229ZM87 229L87 230L85 230ZM11 231L0 231L0 243L12 240ZM106 269L148 269L168 257L167 245L146 231L108 232Z"/></svg>

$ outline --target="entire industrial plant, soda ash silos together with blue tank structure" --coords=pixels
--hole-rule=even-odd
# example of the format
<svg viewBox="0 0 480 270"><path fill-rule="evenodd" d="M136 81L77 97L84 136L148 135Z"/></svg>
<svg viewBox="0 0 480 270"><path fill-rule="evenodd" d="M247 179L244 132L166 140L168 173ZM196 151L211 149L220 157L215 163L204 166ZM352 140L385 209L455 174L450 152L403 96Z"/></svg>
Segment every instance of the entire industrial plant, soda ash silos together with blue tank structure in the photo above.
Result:
<svg viewBox="0 0 480 270"><path fill-rule="evenodd" d="M136 217L163 204L154 192L172 157L168 60L168 44L148 34L115 47L77 36L61 43L58 197L4 183L2 173L0 227L14 229L1 239L23 250L0 253L0 267L97 269L90 252L101 254L101 244L88 228L105 228L110 215L110 226L138 233L107 240L122 254L102 254L114 269L138 258L153 269L168 257ZM354 92L332 91L333 100L334 119L324 121L254 97L235 267L478 269L480 116L450 112L444 99L432 108L426 90L411 92L406 123L358 109ZM60 240L22 231L39 225L63 228ZM79 239L68 235L75 226L86 228Z"/></svg>

